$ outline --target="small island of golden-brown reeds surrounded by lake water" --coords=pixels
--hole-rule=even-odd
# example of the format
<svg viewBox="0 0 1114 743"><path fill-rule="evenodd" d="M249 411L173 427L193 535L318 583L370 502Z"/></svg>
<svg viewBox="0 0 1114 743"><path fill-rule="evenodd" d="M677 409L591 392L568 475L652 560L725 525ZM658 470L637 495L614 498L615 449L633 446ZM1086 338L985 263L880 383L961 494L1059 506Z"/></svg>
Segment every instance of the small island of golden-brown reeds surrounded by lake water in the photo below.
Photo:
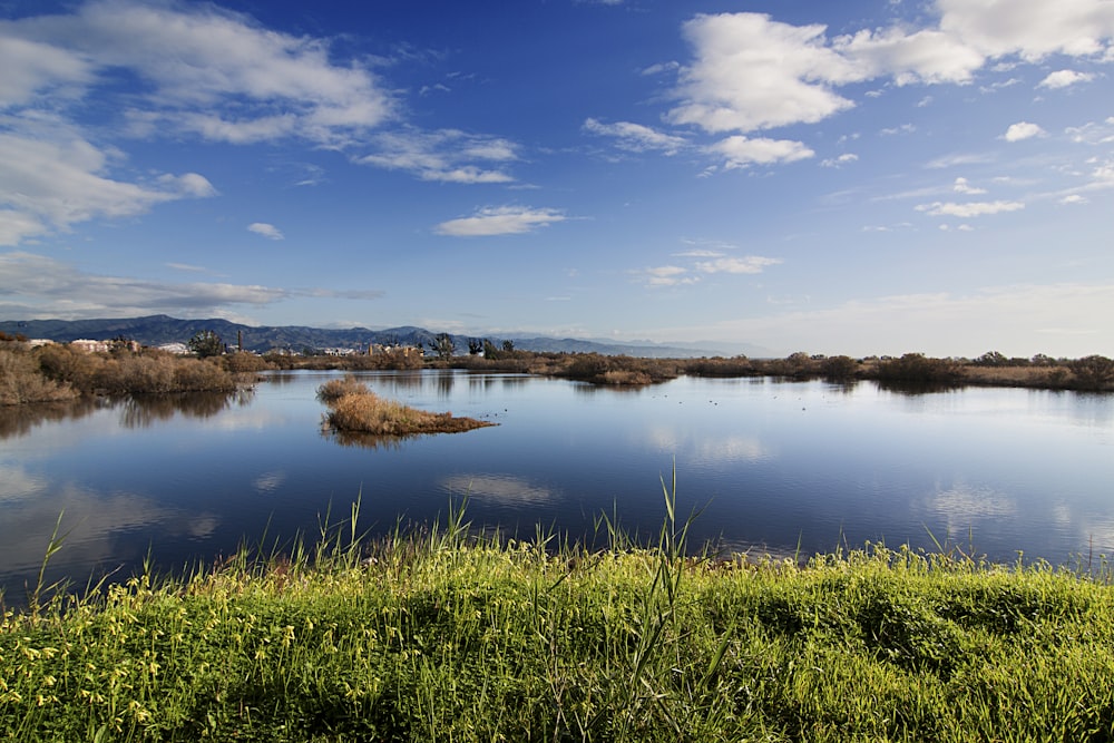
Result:
<svg viewBox="0 0 1114 743"><path fill-rule="evenodd" d="M475 418L455 418L451 412L429 412L387 400L353 377L325 382L317 388L317 399L329 407L324 424L340 433L402 437L460 433L498 424Z"/></svg>

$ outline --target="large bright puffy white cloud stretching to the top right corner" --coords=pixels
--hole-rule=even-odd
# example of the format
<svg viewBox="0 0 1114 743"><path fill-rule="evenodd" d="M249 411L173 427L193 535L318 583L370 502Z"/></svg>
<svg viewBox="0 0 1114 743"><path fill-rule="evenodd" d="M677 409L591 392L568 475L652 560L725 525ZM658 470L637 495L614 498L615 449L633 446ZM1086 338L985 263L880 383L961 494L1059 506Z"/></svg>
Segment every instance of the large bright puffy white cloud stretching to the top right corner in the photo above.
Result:
<svg viewBox="0 0 1114 743"><path fill-rule="evenodd" d="M850 84L965 85L988 62L1039 61L1052 55L1114 53L1114 4L1106 0L938 0L938 20L829 37L822 25L793 26L752 12L698 14L682 32L693 50L681 65L666 120L712 134L811 124L854 106ZM664 68L655 68L664 69ZM1061 70L1042 84L1063 87L1092 76ZM869 94L867 94L869 95Z"/></svg>

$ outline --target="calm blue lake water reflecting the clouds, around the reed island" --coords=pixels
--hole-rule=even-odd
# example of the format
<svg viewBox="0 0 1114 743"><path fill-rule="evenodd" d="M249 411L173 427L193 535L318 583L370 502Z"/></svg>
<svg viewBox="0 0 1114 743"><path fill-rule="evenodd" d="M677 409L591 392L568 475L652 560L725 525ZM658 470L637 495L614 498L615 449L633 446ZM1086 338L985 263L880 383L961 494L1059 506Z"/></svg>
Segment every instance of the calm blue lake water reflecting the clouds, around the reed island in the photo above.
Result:
<svg viewBox="0 0 1114 743"><path fill-rule="evenodd" d="M590 534L664 516L676 462L696 537L828 551L950 537L991 559L1114 553L1114 395L872 383L678 379L619 391L506 374L370 373L408 404L498 427L394 442L323 434L314 393L336 374L276 374L253 393L0 409L0 586L33 580L58 515L51 577L180 567L243 538L316 534L331 507L387 530L468 493L476 525Z"/></svg>

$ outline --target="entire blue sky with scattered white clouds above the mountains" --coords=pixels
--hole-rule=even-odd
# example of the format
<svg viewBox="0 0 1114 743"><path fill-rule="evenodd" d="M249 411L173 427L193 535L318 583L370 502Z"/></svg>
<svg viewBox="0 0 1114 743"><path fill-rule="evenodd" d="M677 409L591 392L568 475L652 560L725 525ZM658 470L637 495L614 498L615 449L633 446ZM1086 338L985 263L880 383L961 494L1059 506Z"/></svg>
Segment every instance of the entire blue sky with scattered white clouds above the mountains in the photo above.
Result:
<svg viewBox="0 0 1114 743"><path fill-rule="evenodd" d="M0 0L0 319L1114 355L1112 0Z"/></svg>

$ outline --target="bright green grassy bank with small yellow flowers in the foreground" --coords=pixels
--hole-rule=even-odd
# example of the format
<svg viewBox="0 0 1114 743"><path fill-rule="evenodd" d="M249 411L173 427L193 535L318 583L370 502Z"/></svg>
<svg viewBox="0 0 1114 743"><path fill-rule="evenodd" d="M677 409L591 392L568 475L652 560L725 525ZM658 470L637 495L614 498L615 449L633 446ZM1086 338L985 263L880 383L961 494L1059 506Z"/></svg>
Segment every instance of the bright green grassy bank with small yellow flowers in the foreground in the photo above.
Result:
<svg viewBox="0 0 1114 743"><path fill-rule="evenodd" d="M671 508L670 499L667 505ZM1114 590L868 547L424 536L140 575L0 625L12 741L1110 741Z"/></svg>

